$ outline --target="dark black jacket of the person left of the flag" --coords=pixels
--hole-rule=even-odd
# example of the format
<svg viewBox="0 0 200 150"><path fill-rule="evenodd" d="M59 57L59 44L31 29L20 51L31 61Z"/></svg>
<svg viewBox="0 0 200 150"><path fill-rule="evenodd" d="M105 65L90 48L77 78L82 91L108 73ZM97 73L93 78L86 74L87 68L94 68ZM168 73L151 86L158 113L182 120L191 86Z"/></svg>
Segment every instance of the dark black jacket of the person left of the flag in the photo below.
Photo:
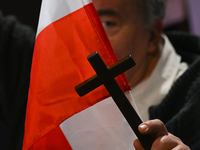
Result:
<svg viewBox="0 0 200 150"><path fill-rule="evenodd" d="M0 14L0 149L22 149L34 31Z"/></svg>

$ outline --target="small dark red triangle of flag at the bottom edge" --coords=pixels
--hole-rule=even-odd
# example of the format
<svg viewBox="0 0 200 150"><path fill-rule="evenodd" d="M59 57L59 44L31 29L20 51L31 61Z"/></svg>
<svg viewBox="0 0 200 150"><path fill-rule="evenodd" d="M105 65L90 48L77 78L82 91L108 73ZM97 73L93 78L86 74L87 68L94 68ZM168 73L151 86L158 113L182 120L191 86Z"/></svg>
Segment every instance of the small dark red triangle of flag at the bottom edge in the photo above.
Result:
<svg viewBox="0 0 200 150"><path fill-rule="evenodd" d="M40 140L37 140L30 150L72 150L60 127L51 130Z"/></svg>

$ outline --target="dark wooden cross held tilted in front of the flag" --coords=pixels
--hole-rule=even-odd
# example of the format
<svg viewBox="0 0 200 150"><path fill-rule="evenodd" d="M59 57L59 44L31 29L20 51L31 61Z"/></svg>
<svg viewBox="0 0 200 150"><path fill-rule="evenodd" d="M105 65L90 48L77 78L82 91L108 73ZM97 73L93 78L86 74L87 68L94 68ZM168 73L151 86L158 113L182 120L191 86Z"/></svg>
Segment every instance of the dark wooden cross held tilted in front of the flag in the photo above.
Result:
<svg viewBox="0 0 200 150"><path fill-rule="evenodd" d="M94 52L89 55L88 61L94 68L97 75L77 85L75 87L76 92L80 96L83 96L103 84L145 150L150 150L154 140L151 135L142 135L138 131L138 126L142 123L142 121L115 80L116 76L135 66L135 62L132 57L128 56L108 68L99 56L98 52Z"/></svg>

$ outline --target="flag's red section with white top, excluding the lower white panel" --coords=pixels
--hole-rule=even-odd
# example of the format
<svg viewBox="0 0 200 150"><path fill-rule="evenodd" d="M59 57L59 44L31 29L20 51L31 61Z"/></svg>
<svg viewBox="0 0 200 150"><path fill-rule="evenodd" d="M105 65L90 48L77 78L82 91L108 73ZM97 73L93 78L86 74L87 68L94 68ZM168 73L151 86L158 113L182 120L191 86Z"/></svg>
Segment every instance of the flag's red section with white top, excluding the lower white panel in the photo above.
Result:
<svg viewBox="0 0 200 150"><path fill-rule="evenodd" d="M87 61L94 51L107 66L117 61L90 0L42 1L23 150L71 149L59 125L109 96L103 86L84 97L75 92L77 84L95 74ZM123 91L130 88L124 74L117 81Z"/></svg>

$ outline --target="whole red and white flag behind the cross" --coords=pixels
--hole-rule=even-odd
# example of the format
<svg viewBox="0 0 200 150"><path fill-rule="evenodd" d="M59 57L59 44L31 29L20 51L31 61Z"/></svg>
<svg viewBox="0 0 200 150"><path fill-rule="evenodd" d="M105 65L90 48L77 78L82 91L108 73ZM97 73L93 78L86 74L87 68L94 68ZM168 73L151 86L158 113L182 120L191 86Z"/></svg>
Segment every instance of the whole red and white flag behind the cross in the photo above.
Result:
<svg viewBox="0 0 200 150"><path fill-rule="evenodd" d="M117 61L90 0L42 1L23 150L133 149L135 135L104 86L75 92L95 74L87 61L95 51L107 66ZM124 74L117 82L130 89Z"/></svg>

